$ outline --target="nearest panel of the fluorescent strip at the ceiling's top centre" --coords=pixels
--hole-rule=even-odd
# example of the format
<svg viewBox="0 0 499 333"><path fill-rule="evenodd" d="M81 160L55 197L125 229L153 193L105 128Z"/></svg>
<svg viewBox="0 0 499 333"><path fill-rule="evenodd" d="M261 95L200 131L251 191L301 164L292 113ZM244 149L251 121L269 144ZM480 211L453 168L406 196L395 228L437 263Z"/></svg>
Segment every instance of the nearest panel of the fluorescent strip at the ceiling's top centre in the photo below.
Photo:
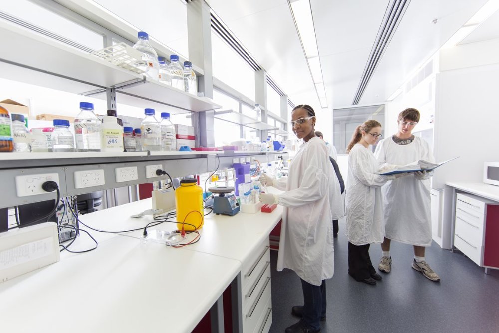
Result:
<svg viewBox="0 0 499 333"><path fill-rule="evenodd" d="M294 21L307 58L319 55L309 0L290 1Z"/></svg>

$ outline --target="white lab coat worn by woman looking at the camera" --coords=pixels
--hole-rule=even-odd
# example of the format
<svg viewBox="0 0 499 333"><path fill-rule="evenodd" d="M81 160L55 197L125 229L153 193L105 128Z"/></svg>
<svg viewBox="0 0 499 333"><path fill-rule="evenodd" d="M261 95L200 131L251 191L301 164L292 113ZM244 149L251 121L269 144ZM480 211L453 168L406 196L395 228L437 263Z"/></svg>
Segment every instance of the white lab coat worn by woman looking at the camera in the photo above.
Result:
<svg viewBox="0 0 499 333"><path fill-rule="evenodd" d="M311 138L289 164L289 176L273 184L285 190L277 270L289 268L320 286L334 273L332 220L343 217L338 178L324 141Z"/></svg>

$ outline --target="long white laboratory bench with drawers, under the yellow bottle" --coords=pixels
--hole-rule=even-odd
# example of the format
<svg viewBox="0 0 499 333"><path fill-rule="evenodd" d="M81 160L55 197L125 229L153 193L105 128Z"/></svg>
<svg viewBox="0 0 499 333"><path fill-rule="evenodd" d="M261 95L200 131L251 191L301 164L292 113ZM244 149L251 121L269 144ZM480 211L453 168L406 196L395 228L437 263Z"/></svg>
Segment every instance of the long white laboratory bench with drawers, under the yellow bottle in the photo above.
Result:
<svg viewBox="0 0 499 333"><path fill-rule="evenodd" d="M144 227L151 199L80 216L108 231ZM0 284L0 331L191 332L211 311L212 332L223 330L222 293L231 286L232 332L268 332L271 324L268 235L272 213L205 216L201 239L182 248L141 241L142 230L89 231L96 250L73 254ZM176 224L148 227L172 231ZM83 232L73 251L92 247Z"/></svg>

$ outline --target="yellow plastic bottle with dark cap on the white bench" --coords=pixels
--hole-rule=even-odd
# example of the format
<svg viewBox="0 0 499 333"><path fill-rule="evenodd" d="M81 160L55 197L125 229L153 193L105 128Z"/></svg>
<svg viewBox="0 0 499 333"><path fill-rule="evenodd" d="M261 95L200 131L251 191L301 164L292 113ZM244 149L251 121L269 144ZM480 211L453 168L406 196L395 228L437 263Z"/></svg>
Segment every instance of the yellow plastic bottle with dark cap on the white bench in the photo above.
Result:
<svg viewBox="0 0 499 333"><path fill-rule="evenodd" d="M194 230L203 227L203 189L198 186L196 179L183 179L180 187L175 191L175 207L177 209L177 228L182 230L182 222L185 219L184 230ZM198 214L199 212L199 214ZM187 216L187 217L186 217Z"/></svg>

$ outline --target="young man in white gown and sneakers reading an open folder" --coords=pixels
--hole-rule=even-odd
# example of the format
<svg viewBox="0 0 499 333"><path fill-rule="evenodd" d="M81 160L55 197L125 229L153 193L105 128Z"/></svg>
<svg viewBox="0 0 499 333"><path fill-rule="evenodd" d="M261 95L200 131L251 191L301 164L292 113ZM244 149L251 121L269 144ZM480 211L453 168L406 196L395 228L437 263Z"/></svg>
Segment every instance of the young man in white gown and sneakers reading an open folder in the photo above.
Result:
<svg viewBox="0 0 499 333"><path fill-rule="evenodd" d="M412 131L419 122L419 111L402 111L397 119L398 132L381 140L374 155L380 163L405 165L419 160L434 162L431 148ZM389 181L382 187L384 196L385 238L381 244L383 255L379 270L389 273L391 240L411 244L414 259L411 267L432 281L440 281L425 260L425 247L432 245L430 212L430 177L433 171L418 171L413 175Z"/></svg>

